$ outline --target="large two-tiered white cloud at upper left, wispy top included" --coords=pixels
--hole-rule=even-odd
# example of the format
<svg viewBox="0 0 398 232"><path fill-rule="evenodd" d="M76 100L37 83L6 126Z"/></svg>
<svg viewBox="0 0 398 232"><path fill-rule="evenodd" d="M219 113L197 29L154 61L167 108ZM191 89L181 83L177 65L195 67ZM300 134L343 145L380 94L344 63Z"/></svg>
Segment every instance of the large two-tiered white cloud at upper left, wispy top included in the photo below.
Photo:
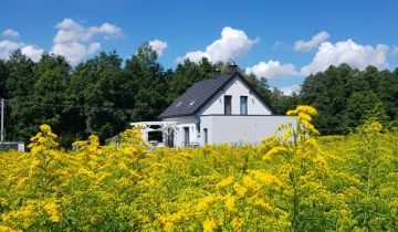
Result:
<svg viewBox="0 0 398 232"><path fill-rule="evenodd" d="M123 36L123 30L108 22L100 27L86 28L66 18L55 28L59 31L53 39L54 45L51 52L63 55L73 66L101 50L101 43L91 42L95 35L103 35L104 39Z"/></svg>

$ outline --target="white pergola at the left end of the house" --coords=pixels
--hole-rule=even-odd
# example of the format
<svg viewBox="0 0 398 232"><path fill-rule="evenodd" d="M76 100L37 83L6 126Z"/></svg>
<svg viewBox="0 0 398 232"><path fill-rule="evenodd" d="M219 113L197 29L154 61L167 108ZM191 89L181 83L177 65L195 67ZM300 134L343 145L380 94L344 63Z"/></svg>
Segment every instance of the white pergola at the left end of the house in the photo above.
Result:
<svg viewBox="0 0 398 232"><path fill-rule="evenodd" d="M143 138L146 141L148 141L148 133L150 131L161 131L165 140L165 137L168 137L170 134L172 134L176 130L177 124L178 124L177 122L137 122L137 123L130 123L130 126L143 127L142 129ZM160 128L154 129L150 128L151 126L159 126Z"/></svg>

